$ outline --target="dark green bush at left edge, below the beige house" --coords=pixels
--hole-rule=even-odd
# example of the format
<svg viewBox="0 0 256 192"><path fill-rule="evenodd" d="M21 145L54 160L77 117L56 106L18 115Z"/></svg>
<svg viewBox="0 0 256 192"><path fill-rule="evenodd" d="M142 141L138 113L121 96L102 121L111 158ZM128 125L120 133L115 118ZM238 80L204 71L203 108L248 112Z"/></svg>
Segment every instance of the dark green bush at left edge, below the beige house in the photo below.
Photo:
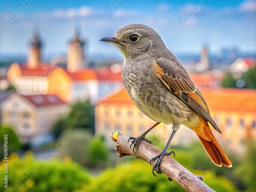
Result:
<svg viewBox="0 0 256 192"><path fill-rule="evenodd" d="M8 154L19 150L21 144L18 136L9 125L0 125L0 160L4 157L4 135L8 135ZM3 146L3 147L2 147Z"/></svg>

